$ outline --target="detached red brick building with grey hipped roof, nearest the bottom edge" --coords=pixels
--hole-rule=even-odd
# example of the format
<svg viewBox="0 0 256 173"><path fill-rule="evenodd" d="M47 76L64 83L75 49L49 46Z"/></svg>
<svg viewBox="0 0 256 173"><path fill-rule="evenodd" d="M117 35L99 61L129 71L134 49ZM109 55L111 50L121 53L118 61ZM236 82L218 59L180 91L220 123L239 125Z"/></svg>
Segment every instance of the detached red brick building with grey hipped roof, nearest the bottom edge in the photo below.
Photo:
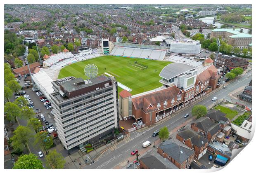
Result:
<svg viewBox="0 0 256 173"><path fill-rule="evenodd" d="M166 140L164 143L161 143L157 152L180 169L189 168L194 159L193 150L180 146L170 140Z"/></svg>

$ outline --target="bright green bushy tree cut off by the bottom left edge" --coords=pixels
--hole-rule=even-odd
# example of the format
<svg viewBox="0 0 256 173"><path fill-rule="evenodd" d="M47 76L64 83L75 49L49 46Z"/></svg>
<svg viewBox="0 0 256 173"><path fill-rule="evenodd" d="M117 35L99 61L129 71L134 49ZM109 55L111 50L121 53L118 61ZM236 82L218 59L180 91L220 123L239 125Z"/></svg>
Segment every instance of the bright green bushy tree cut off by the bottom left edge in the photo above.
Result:
<svg viewBox="0 0 256 173"><path fill-rule="evenodd" d="M14 163L13 169L43 169L43 164L33 153L22 154Z"/></svg>

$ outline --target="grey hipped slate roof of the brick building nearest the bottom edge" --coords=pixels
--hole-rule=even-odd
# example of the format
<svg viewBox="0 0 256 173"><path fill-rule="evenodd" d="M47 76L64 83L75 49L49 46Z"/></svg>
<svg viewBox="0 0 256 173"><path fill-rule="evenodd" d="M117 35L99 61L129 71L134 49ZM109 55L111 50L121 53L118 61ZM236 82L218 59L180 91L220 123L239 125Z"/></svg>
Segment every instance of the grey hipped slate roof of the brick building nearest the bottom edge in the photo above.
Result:
<svg viewBox="0 0 256 173"><path fill-rule="evenodd" d="M182 147L170 140L166 140L164 143L161 143L159 148L180 164L194 154L193 150Z"/></svg>

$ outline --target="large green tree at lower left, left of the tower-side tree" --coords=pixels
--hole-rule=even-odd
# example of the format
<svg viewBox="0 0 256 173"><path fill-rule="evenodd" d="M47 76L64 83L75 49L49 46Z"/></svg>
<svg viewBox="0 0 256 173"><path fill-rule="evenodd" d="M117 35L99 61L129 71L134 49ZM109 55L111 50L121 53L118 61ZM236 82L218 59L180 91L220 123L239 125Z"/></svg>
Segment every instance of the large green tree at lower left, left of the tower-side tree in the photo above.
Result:
<svg viewBox="0 0 256 173"><path fill-rule="evenodd" d="M14 130L14 136L12 136L12 145L15 150L21 149L24 147L28 151L28 140L32 137L32 131L26 126L18 126L16 130Z"/></svg>

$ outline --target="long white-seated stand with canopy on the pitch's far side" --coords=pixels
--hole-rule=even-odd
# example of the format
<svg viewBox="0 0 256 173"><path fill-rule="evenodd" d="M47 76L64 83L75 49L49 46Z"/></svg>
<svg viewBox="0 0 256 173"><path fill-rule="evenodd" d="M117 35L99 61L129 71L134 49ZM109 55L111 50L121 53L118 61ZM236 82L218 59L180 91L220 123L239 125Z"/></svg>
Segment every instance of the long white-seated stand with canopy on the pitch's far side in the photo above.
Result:
<svg viewBox="0 0 256 173"><path fill-rule="evenodd" d="M154 60L164 60L166 48L146 44L131 44L114 42L114 49L110 55L125 56L132 58L148 58Z"/></svg>

